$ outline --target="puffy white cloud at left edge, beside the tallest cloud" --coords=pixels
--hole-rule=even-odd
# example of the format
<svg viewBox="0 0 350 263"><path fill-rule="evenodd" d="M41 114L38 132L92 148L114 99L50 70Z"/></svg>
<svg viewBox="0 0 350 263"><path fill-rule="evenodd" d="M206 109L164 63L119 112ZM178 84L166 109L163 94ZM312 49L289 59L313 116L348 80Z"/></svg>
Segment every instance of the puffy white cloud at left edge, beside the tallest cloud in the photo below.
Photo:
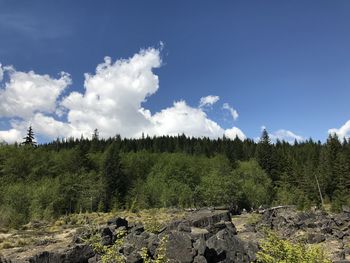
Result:
<svg viewBox="0 0 350 263"><path fill-rule="evenodd" d="M71 84L67 73L53 79L33 71L20 72L4 67L1 75L7 73L10 81L0 88L0 116L30 118L36 112L52 113L62 91Z"/></svg>

